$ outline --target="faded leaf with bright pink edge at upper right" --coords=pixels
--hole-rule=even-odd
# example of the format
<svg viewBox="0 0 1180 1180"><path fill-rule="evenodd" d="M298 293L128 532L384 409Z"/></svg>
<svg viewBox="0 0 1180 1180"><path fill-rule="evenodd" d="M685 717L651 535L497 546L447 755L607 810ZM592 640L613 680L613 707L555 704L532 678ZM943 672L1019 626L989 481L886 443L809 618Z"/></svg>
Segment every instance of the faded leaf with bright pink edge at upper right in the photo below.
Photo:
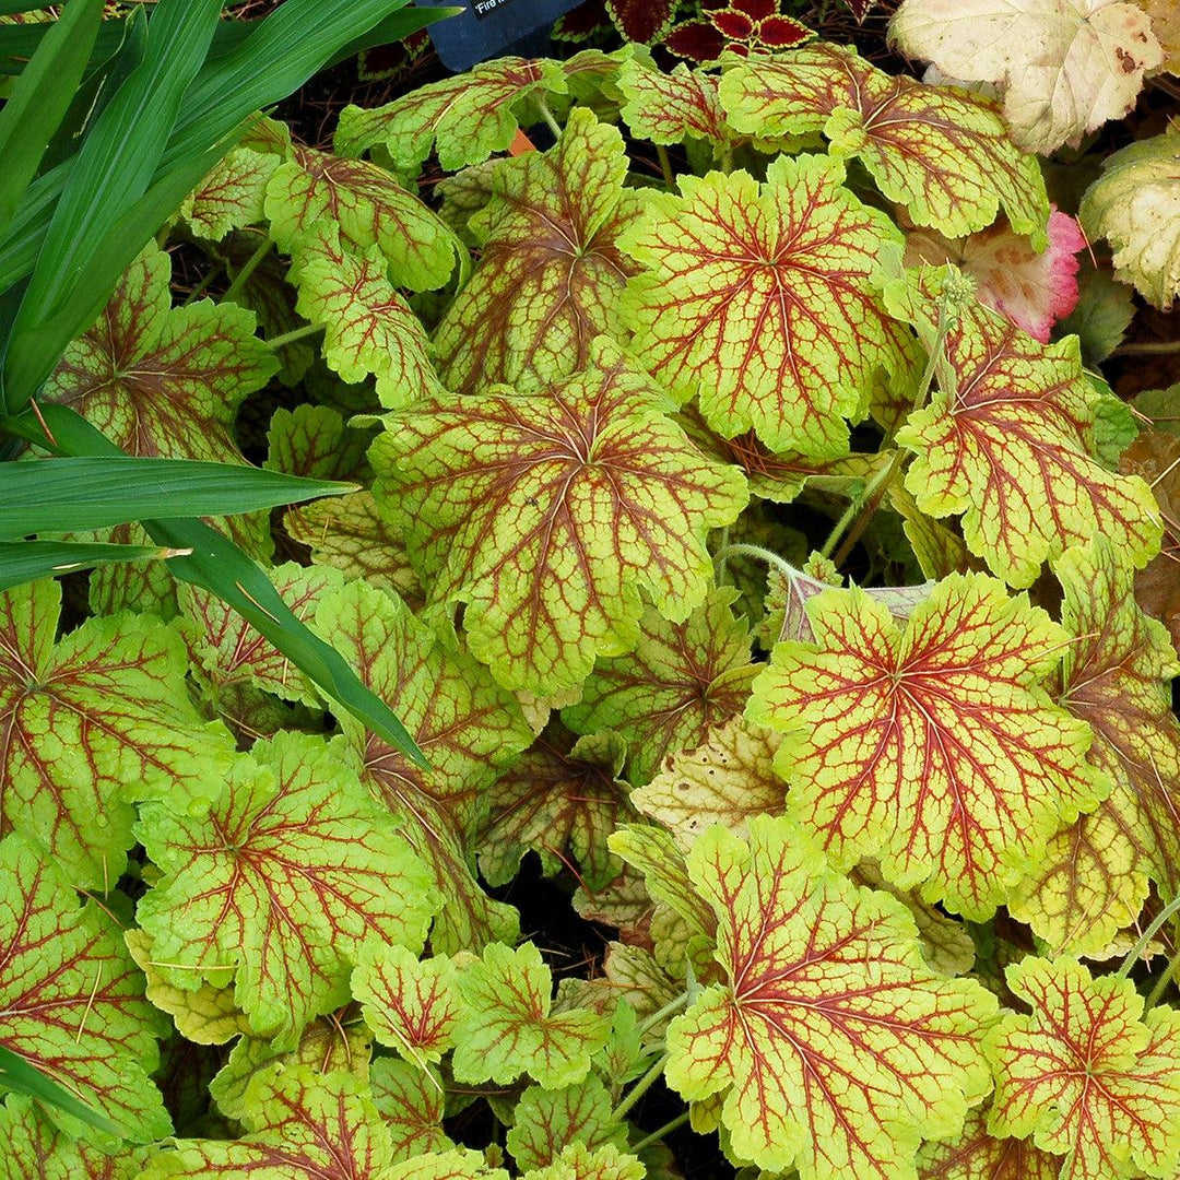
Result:
<svg viewBox="0 0 1180 1180"><path fill-rule="evenodd" d="M906 235L905 264L955 263L976 281L976 297L984 307L1047 345L1053 326L1077 304L1077 251L1086 249L1077 222L1056 209L1048 232L1048 249L1038 254L1003 222L970 237L914 230Z"/></svg>

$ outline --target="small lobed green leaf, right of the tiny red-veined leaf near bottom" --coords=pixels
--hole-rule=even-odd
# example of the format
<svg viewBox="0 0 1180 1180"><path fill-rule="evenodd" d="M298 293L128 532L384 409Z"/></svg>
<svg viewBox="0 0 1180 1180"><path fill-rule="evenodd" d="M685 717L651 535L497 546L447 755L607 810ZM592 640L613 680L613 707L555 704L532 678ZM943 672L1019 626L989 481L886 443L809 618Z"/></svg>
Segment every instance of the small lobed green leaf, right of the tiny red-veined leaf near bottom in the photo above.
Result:
<svg viewBox="0 0 1180 1180"><path fill-rule="evenodd" d="M588 1008L551 1012L552 976L532 943L500 943L459 976L466 1010L452 1068L459 1082L514 1082L529 1074L546 1089L582 1081L610 1034L610 1017Z"/></svg>

